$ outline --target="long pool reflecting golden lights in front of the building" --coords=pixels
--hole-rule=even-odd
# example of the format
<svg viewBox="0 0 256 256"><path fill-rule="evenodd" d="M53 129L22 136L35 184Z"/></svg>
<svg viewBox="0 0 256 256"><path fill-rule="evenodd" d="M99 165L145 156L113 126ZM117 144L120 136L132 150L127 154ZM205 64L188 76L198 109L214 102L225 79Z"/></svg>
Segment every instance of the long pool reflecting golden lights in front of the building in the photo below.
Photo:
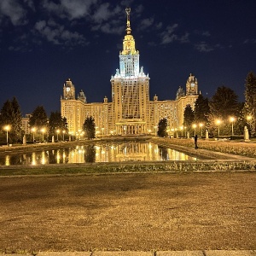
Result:
<svg viewBox="0 0 256 256"><path fill-rule="evenodd" d="M119 161L196 160L172 148L153 143L104 143L0 156L1 166L49 165Z"/></svg>

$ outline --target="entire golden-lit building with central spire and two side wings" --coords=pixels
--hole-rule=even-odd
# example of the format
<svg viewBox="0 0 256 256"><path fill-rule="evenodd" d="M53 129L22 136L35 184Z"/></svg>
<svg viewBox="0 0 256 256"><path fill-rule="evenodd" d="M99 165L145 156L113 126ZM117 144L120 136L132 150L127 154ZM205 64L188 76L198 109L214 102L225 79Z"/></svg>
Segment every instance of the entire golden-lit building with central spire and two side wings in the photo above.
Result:
<svg viewBox="0 0 256 256"><path fill-rule="evenodd" d="M84 120L93 117L96 135L139 135L155 134L160 119L166 118L168 128L178 129L183 125L186 105L195 107L198 97L198 83L190 73L186 88L179 87L175 100L159 101L154 96L149 100L149 80L139 63L139 51L131 35L130 11L127 15L126 34L123 49L119 52L119 68L111 77L112 102L105 96L103 102L87 102L84 91L76 97L71 79L63 86L61 116L67 118L68 130L73 135L82 131Z"/></svg>

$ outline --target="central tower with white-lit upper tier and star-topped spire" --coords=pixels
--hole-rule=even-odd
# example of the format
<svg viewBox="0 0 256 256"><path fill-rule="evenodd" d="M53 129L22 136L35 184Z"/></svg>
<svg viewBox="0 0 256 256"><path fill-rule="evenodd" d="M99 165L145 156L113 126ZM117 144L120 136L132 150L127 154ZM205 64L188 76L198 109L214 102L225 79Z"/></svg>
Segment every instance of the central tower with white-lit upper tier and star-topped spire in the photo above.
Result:
<svg viewBox="0 0 256 256"><path fill-rule="evenodd" d="M110 80L113 125L117 134L142 134L148 129L149 77L139 67L140 55L131 35L131 9L125 12L126 34L119 52L119 68Z"/></svg>

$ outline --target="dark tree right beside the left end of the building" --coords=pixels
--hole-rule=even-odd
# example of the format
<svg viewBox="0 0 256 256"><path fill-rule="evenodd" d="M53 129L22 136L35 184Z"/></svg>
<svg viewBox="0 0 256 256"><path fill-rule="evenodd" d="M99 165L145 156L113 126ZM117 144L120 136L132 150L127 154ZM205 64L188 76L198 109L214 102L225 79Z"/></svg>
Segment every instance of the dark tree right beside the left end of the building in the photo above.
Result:
<svg viewBox="0 0 256 256"><path fill-rule="evenodd" d="M55 111L49 114L49 135L54 136L56 130L67 133L67 119L61 117L61 112Z"/></svg>

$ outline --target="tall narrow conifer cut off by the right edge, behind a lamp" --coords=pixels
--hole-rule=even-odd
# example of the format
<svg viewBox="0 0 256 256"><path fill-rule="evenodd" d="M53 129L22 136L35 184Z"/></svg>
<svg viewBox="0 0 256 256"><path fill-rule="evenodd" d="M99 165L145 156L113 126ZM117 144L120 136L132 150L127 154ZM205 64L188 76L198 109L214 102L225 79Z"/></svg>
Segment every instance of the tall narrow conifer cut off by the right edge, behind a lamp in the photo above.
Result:
<svg viewBox="0 0 256 256"><path fill-rule="evenodd" d="M245 87L244 113L254 136L256 134L256 76L253 72L247 74Z"/></svg>

